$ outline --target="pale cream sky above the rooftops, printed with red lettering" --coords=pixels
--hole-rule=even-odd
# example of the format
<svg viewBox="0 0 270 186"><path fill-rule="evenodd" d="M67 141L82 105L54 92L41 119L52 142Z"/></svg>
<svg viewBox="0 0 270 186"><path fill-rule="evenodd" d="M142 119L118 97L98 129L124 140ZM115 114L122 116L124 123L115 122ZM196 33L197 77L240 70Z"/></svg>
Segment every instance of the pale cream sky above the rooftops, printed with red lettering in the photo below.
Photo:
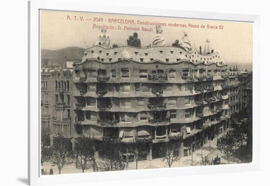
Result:
<svg viewBox="0 0 270 186"><path fill-rule="evenodd" d="M206 39L209 39L212 48L225 62L252 62L253 25L251 23L57 10L40 11L41 49L57 50L70 46L89 48L93 46L98 34L101 33L98 26L104 25L114 27L113 30L107 29L111 45L113 43L118 46L127 45L128 37L135 31L125 30L126 26L127 28L138 28L139 31L136 32L141 40L141 45L147 46L157 35L156 26L138 23L147 21L166 24L162 27L162 37L165 39L166 45L171 46L176 39L180 40L185 31L188 33L192 47L199 49L199 46L202 46L203 50ZM131 20L134 21L134 24L109 23L109 19ZM169 23L187 27L169 27ZM216 26L216 29L207 28L207 25L214 26L214 28ZM121 27L121 30L118 30L118 26ZM198 28L196 28L197 26ZM151 29L151 31L142 31L143 27Z"/></svg>

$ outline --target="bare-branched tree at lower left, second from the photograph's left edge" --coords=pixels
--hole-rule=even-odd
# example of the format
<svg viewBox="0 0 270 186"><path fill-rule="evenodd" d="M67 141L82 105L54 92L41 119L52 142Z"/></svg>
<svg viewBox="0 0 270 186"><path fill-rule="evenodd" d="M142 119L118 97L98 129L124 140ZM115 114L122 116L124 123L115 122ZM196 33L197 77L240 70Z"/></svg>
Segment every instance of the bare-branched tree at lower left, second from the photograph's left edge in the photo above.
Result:
<svg viewBox="0 0 270 186"><path fill-rule="evenodd" d="M54 143L51 150L51 161L54 165L57 165L59 174L61 174L62 168L67 163L68 158L71 155L71 150L69 149L69 139L62 136L54 138Z"/></svg>

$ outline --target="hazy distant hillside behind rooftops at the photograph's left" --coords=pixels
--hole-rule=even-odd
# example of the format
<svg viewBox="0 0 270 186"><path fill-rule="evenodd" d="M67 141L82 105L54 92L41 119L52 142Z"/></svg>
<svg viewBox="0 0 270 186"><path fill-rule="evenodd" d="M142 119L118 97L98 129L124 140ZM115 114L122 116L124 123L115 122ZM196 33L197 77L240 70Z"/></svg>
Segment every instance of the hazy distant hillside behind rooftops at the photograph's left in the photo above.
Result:
<svg viewBox="0 0 270 186"><path fill-rule="evenodd" d="M41 65L66 66L66 62L80 62L84 53L84 48L66 47L59 50L41 49Z"/></svg>

